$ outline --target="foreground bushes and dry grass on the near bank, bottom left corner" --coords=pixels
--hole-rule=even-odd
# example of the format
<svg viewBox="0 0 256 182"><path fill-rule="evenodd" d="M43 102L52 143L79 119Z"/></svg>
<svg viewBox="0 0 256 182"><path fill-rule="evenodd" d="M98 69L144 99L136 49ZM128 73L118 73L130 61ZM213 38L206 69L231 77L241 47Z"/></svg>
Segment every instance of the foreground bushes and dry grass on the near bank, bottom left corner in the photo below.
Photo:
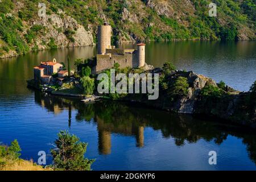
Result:
<svg viewBox="0 0 256 182"><path fill-rule="evenodd" d="M40 166L32 160L20 159L21 148L17 140L10 146L0 145L1 171L90 171L94 160L84 157L88 143L80 142L68 131L60 131L51 149L53 164Z"/></svg>

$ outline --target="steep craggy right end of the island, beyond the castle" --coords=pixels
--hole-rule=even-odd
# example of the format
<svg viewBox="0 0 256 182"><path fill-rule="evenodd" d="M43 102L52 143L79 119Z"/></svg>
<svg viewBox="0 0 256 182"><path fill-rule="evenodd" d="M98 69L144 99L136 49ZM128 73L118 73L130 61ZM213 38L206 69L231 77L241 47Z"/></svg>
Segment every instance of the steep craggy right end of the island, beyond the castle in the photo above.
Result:
<svg viewBox="0 0 256 182"><path fill-rule="evenodd" d="M163 71L162 69L154 69L152 73L162 75ZM173 94L171 92L176 91L173 89L172 82L180 77L187 80L186 92ZM168 88L164 88L163 85L165 84L168 85ZM180 85L176 85L176 87L180 87ZM225 88L220 88L212 78L192 71L172 71L169 73L166 80L160 81L158 100L150 101L143 94L128 94L122 100L141 102L175 113L208 115L232 123L256 127L256 105L251 100L249 92L240 92L228 85L225 85Z"/></svg>

